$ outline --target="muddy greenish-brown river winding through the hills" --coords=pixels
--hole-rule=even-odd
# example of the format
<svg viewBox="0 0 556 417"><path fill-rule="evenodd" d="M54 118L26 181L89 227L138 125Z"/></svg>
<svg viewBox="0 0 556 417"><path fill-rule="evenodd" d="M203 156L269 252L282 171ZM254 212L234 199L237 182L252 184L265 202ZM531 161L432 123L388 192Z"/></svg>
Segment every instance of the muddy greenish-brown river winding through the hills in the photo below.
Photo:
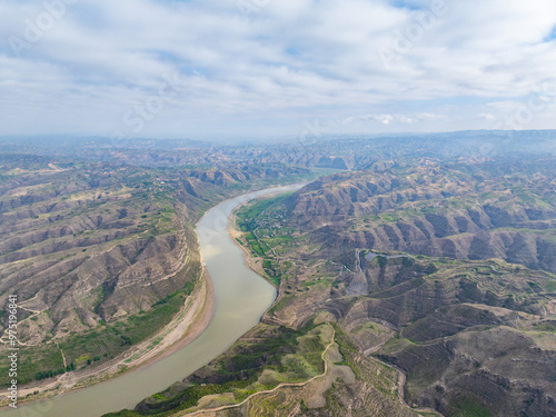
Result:
<svg viewBox="0 0 556 417"><path fill-rule="evenodd" d="M142 399L182 380L222 354L260 321L276 299L275 288L244 264L244 255L227 231L228 218L240 203L255 197L287 192L301 185L269 188L221 202L197 226L202 259L212 279L216 309L209 326L191 344L148 366L92 387L51 400L3 409L6 417L99 417L135 408Z"/></svg>

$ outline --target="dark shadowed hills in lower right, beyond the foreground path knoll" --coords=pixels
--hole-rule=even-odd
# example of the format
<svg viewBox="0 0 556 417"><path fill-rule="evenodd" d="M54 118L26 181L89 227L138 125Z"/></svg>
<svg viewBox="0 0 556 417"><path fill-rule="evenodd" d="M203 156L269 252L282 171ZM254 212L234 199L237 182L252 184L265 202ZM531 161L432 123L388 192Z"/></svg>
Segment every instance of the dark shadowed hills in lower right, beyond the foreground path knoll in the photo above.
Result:
<svg viewBox="0 0 556 417"><path fill-rule="evenodd" d="M494 415L555 411L555 339L535 331L553 328L543 307L553 298L550 275L516 271L502 260L433 265L384 257L363 270L366 294L322 307L363 350L407 373L409 404L449 416L461 401ZM387 324L397 337L380 347L377 325L368 322Z"/></svg>

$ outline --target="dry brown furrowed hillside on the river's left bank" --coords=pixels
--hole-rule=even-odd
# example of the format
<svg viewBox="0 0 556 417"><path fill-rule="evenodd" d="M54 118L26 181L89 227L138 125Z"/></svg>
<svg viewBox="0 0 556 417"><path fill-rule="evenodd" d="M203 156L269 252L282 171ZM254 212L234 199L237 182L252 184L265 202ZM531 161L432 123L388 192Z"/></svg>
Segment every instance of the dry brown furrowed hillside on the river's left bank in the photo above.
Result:
<svg viewBox="0 0 556 417"><path fill-rule="evenodd" d="M18 294L34 317L22 324L22 341L148 310L198 277L183 208L125 178L139 172L47 169L4 185L0 291Z"/></svg>

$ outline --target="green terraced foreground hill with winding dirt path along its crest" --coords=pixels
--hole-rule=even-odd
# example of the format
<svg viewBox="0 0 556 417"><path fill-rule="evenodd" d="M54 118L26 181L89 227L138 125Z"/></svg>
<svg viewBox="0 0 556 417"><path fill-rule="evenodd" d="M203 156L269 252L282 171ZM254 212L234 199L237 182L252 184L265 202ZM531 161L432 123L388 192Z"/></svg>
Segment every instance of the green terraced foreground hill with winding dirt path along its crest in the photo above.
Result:
<svg viewBox="0 0 556 417"><path fill-rule="evenodd" d="M325 318L322 316L316 322ZM196 373L186 385L176 385L147 399L136 411L109 416L437 415L434 411L413 411L405 406L399 400L398 373L359 355L348 336L330 324L314 324L297 331L300 337L295 341L290 339L289 345L281 345L282 349L289 346L294 351L280 354L279 363L276 361L276 355L266 356L264 364L255 370L256 383L252 383L254 377L244 384L238 380L225 383L228 379L225 369L229 369L231 364L237 365L237 360L245 360L247 351L270 351L265 346L268 341L262 339L269 331L284 335L290 330L260 325L242 337L229 353ZM249 369L249 366L244 365L242 368ZM215 381L219 384L215 385ZM230 389L238 385L241 388ZM209 394L214 390L219 393ZM199 391L202 394L193 395ZM252 393L245 397L246 391ZM346 396L347 393L349 396ZM354 406L353 399L357 399L357 406ZM166 407L171 409L163 411Z"/></svg>

